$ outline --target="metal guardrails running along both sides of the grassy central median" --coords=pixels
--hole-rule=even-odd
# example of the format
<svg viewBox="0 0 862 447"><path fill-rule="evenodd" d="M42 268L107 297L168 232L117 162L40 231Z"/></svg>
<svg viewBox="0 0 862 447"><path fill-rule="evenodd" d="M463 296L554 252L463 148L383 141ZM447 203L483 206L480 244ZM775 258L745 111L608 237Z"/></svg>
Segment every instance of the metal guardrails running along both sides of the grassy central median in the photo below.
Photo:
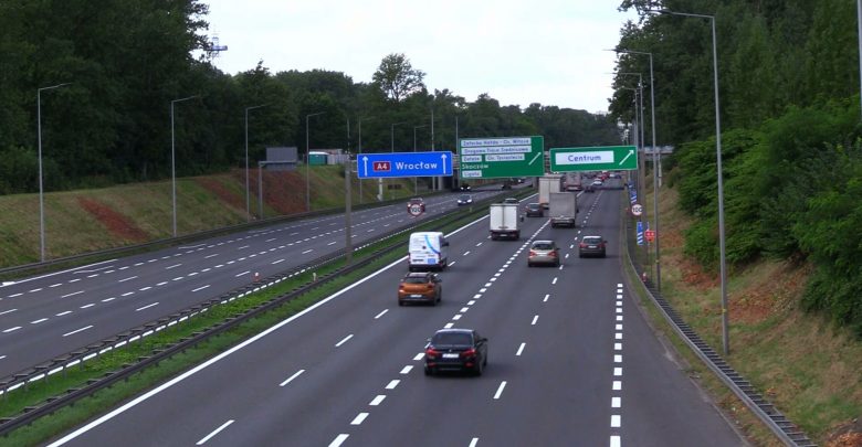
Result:
<svg viewBox="0 0 862 447"><path fill-rule="evenodd" d="M490 203L492 203L494 200L497 200L501 195L509 195L506 194L504 191L502 194L494 194L490 196L488 199L482 200L476 203L479 206L484 206ZM450 211L449 213L441 214L440 216L431 220L424 220L417 222L412 225L407 225L401 228L392 230L380 237L376 238L375 241L368 242L361 246L358 246L354 248L354 251L362 249L367 246L370 246L372 244L376 244L380 241L397 236L399 234L404 234L407 232L410 232L419 226L424 226L428 224L432 224L438 222L440 225L448 225L453 222L456 222L461 219L463 219L465 215L474 213L472 210L476 205L470 207L467 210L464 209L455 209L453 211ZM465 212L466 211L466 212ZM403 244L395 244L389 247L385 247L381 249L378 249L370 256L368 256L366 259L362 259L360 262L356 262L347 267L338 268L337 270L323 276L320 278L317 278L316 281L312 281L308 284L305 284L301 286L298 289L295 289L288 294L275 297L271 300L269 300L265 304L262 304L254 309L233 318L227 319L224 322L216 324L207 330L196 332L192 337L182 339L178 343L175 343L174 345L166 348L164 350L159 350L157 352L154 352L153 355L147 358L139 359L138 362L125 365L122 370L114 371L111 373L107 373L105 376L101 379L94 379L87 382L87 384L81 389L72 389L67 390L66 393L62 396L54 396L45 402L43 402L41 405L28 407L25 411L17 416L13 417L6 417L0 418L0 435L7 435L11 430L22 426L32 423L36 418L51 414L55 412L56 409L71 404L80 398L90 396L94 394L95 392L111 386L111 384L116 383L119 380L123 380L125 377L130 376L132 374L135 374L143 369L156 364L178 352L182 352L186 349L189 349L201 341L213 337L216 334L222 333L223 331L243 322L251 318L254 318L265 311L269 311L275 307L278 307L301 295L304 295L308 291L311 291L314 288L317 288L324 284L326 284L328 280L337 278L339 276L346 275L350 272L354 272L358 268L361 268L376 259L380 258L381 256L385 256L389 253L391 253L395 249L400 249ZM28 369L25 371L21 371L20 373L12 374L8 377L4 377L0 380L0 394L3 396L7 396L9 392L18 390L19 387L27 387L28 384L35 382L35 381L42 381L42 380L49 380L49 377L53 374L56 374L59 372L64 371L67 368L72 368L75 365L78 365L87 360L97 358L101 354L104 354L106 352L109 352L112 350L128 345L129 343L139 341L144 339L145 337L151 336L154 333L157 333L161 330L165 330L169 327L172 327L175 324L178 324L180 322L183 322L197 315L207 312L210 308L218 305L228 304L230 301L233 301L238 298L245 297L250 294L253 294L255 291L265 289L267 287L274 286L283 280L290 279L296 275L306 273L311 269L318 268L322 266L325 266L327 264L334 263L341 257L344 257L346 254L345 248L340 248L329 255L325 255L322 257L318 257L315 260L312 260L311 263L304 264L299 267L295 267L291 270L287 270L285 273L274 275L271 277L267 277L263 280L261 280L256 285L250 285L240 287L238 289L234 289L230 292L223 294L218 298L212 298L207 301L203 301L201 304L198 304L193 307L187 308L185 310L181 310L179 312L172 313L167 317L162 317L158 320L150 321L148 323L145 323L143 326L139 326L137 328L124 331L122 333L118 333L114 337L107 338L102 340L101 342L88 344L87 347L81 348L78 350L69 352L64 355L57 356L52 361L45 362L43 364L33 366L31 369Z"/></svg>

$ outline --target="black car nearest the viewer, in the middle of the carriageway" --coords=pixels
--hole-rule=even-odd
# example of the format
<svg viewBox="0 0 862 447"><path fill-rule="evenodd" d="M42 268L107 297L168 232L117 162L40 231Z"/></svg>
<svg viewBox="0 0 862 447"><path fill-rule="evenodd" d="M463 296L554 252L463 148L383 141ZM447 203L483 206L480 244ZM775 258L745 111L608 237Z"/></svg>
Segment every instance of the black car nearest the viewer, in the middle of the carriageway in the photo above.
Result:
<svg viewBox="0 0 862 447"><path fill-rule="evenodd" d="M441 329L425 347L425 375L466 371L482 375L487 365L487 339L472 329Z"/></svg>

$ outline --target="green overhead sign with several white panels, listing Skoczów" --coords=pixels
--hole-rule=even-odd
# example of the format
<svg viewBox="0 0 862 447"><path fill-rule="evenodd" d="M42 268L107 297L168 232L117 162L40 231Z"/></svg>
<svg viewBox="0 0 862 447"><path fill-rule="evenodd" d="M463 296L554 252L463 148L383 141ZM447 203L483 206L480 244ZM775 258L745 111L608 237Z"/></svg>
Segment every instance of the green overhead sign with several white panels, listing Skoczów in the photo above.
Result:
<svg viewBox="0 0 862 447"><path fill-rule="evenodd" d="M465 138L458 146L462 179L545 174L543 137Z"/></svg>

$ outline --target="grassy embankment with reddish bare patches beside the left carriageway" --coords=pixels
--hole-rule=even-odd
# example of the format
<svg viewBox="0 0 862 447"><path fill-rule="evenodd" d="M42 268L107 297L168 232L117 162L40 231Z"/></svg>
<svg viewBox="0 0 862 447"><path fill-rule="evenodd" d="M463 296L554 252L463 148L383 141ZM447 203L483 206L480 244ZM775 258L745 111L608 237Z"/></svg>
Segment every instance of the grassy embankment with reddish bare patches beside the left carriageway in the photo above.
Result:
<svg viewBox="0 0 862 447"><path fill-rule="evenodd" d="M305 170L266 172L263 175L263 215L274 217L305 211ZM344 168L311 168L313 210L344 206ZM251 213L259 217L257 172L250 179ZM375 201L377 183L353 179L353 203ZM387 200L413 194L413 182L389 180ZM421 188L421 183L420 183ZM45 257L64 257L98 249L157 241L172 235L170 179L104 189L44 194ZM40 259L39 194L0 196L0 268ZM177 179L177 233L179 235L246 222L245 173Z"/></svg>

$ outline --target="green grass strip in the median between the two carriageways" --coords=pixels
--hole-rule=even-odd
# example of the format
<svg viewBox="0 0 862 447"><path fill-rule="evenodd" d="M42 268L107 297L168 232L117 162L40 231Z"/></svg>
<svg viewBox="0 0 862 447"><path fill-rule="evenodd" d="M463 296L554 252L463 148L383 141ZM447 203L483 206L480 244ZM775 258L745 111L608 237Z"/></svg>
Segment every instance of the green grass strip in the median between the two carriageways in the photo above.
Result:
<svg viewBox="0 0 862 447"><path fill-rule="evenodd" d="M427 227L425 230L434 228L451 231L472 221L482 213L484 213L484 210L475 211L464 215L458 220L458 222L445 226L429 223L422 225L422 227ZM406 243L407 237L407 234L399 235L389 241L379 242L365 247L354 255L354 259L358 260L366 257L383 246ZM43 444L52 437L57 436L57 434L64 433L72 427L81 425L83 422L104 413L106 408L112 408L119 403L129 400L132 396L151 389L159 383L166 382L182 371L223 352L249 337L260 333L264 329L297 313L324 297L340 290L361 277L368 276L369 273L402 256L403 253L401 251L395 251L357 272L338 276L330 283L304 294L290 302L280 306L275 310L243 322L222 334L213 337L206 343L188 349L181 354L160 362L158 365L148 368L127 381L119 382L109 389L99 391L93 397L85 398L74 406L62 408L55 414L43 417L30 426L12 432L8 437L0 438L0 445L30 446ZM340 262L333 263L332 265L317 269L315 273L320 277L333 273L340 266L343 266ZM11 416L18 414L23 411L24 407L35 405L51 396L60 395L65 390L83 386L90 379L99 377L107 372L116 371L125 363L133 363L139 356L149 355L154 350L164 349L183 337L190 337L196 331L201 331L213 324L218 324L224 321L225 318L240 315L272 298L286 294L301 285L307 284L311 281L311 277L312 272L307 272L304 275L298 275L292 279L282 281L278 285L236 299L227 305L212 307L204 313L191 318L183 323L167 328L140 342L109 351L98 359L82 363L80 368L73 368L66 374L56 374L51 376L49 381L31 384L27 391L19 389L11 392L9 396L0 398L0 415Z"/></svg>

